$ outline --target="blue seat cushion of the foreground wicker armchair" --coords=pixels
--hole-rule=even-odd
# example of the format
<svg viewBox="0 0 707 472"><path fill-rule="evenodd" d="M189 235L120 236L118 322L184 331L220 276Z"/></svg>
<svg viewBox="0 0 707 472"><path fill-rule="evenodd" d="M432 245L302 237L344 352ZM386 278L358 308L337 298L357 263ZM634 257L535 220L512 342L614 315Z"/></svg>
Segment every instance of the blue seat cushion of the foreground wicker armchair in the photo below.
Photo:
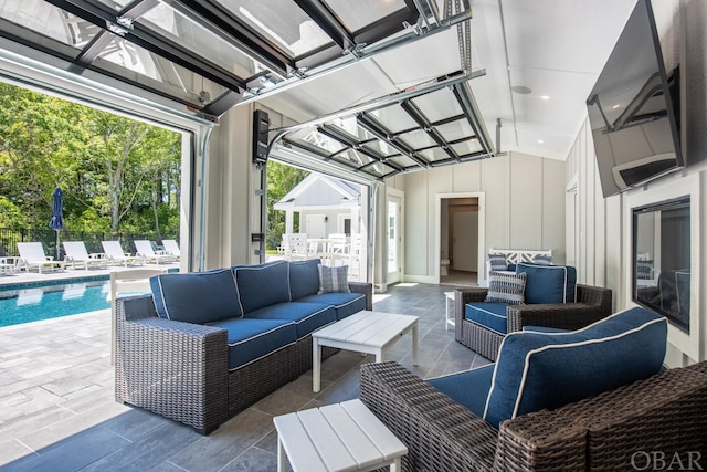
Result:
<svg viewBox="0 0 707 472"><path fill-rule="evenodd" d="M477 417L484 416L494 365L428 380L432 387L466 407Z"/></svg>

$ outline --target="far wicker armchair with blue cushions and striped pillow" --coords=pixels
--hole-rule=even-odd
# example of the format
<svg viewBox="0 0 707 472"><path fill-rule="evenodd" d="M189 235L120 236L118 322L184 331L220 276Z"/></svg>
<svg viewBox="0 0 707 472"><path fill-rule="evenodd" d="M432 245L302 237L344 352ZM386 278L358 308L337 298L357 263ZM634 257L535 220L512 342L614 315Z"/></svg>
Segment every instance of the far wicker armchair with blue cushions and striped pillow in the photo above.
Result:
<svg viewBox="0 0 707 472"><path fill-rule="evenodd" d="M518 268L526 264L520 263ZM558 265L532 265L527 269L530 271L528 274L541 271L559 272L569 269L570 277L573 272L573 268ZM530 279L528 279L528 283L530 286ZM611 289L576 284L570 281L569 284L561 285L555 293L537 293L538 291L547 291L546 287L545 280L535 282L532 287L536 292L535 300L517 305L485 303L488 287L457 289L454 294L455 339L482 356L496 360L500 343L508 333L518 332L524 326L578 329L605 317L612 311ZM547 303L551 296L569 297L569 295L573 297L572 301L560 302L558 298L551 301L552 303ZM528 296L527 291L526 296ZM489 312L495 313L485 319L474 318L469 316L472 306L481 310L485 310L484 306L489 306Z"/></svg>

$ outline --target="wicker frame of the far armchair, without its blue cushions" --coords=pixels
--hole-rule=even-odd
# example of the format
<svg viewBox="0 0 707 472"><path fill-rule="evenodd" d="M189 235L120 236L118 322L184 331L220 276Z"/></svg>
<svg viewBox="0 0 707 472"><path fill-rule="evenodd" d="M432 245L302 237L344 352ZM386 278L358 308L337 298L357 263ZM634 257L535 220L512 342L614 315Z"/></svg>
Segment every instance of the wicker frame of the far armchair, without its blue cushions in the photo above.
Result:
<svg viewBox="0 0 707 472"><path fill-rule="evenodd" d="M466 319L465 305L483 302L488 289L457 289L454 294L454 338L482 356L496 360L505 334ZM508 333L524 326L547 326L579 329L592 324L612 311L612 291L598 286L577 284L577 302L559 304L508 305Z"/></svg>

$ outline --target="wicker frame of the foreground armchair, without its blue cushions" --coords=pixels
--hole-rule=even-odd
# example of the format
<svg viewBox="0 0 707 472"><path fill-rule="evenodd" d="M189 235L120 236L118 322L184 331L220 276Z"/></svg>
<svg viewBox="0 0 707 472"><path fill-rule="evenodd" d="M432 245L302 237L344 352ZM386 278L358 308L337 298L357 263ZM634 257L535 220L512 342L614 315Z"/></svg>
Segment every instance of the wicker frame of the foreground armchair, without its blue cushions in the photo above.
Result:
<svg viewBox="0 0 707 472"><path fill-rule="evenodd" d="M578 357L579 368L583 359ZM661 458L668 464L682 461L683 470L690 470L692 461L692 470L700 470L707 461L707 363L517 415L499 427L442 392L435 381L445 378L423 381L395 363L361 366L361 400L408 447L404 471L657 470Z"/></svg>

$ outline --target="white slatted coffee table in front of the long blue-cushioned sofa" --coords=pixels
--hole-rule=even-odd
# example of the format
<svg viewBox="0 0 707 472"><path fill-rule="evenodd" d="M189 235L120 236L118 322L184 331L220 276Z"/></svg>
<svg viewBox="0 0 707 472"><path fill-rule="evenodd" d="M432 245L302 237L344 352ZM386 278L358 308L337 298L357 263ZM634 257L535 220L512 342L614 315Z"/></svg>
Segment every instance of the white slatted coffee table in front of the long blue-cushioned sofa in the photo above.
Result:
<svg viewBox="0 0 707 472"><path fill-rule="evenodd" d="M412 361L418 365L418 317L365 310L312 333L313 390L321 388L321 346L374 354L380 363L383 349L412 332Z"/></svg>

